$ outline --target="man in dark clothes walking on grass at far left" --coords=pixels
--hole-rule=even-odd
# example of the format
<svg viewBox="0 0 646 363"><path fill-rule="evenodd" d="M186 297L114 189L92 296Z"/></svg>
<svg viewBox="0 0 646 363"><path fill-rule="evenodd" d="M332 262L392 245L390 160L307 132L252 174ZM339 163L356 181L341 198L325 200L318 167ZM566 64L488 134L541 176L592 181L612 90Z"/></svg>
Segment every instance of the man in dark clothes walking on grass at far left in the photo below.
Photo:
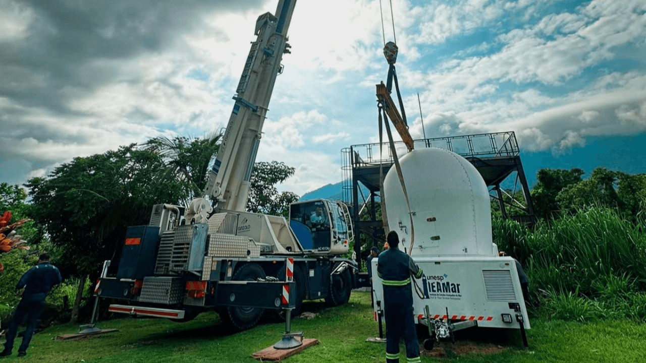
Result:
<svg viewBox="0 0 646 363"><path fill-rule="evenodd" d="M27 329L23 336L23 343L18 348L18 357L25 357L29 342L32 340L34 331L38 326L38 318L43 312L45 298L54 285L61 283L61 273L56 266L50 264L48 254L41 254L38 264L23 275L16 285L16 290L25 289L23 298L21 298L16 313L9 323L6 333L5 350L0 353L0 357L11 355L14 347L14 339L18 326L27 317Z"/></svg>

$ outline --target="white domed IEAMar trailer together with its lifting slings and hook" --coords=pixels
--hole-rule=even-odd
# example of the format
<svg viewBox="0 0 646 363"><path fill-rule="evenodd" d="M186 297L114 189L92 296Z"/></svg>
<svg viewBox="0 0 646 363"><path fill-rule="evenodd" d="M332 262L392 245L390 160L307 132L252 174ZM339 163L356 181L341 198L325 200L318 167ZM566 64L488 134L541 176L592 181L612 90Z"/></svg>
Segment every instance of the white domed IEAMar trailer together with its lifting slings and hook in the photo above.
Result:
<svg viewBox="0 0 646 363"><path fill-rule="evenodd" d="M414 149L395 73L397 45L386 43L384 55L388 82L377 85L376 93L380 128L383 114L395 167L383 179L382 215L384 228L397 232L400 249L423 271L419 282L411 280L415 318L428 326L431 336L424 345L430 350L435 340L453 338L453 331L483 326L520 329L527 346L525 329L530 324L516 260L499 256L493 243L486 183L474 165L455 152ZM390 97L393 81L401 113ZM389 118L406 145L401 159ZM368 268L375 316L381 319L384 296L378 260L373 258Z"/></svg>

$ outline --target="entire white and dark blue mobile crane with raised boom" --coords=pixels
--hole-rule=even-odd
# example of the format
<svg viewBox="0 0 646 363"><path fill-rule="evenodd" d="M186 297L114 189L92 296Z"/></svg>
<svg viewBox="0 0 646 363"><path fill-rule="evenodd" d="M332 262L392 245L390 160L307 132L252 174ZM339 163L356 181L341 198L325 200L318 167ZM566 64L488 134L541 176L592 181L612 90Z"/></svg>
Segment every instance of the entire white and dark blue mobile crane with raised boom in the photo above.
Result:
<svg viewBox="0 0 646 363"><path fill-rule="evenodd" d="M295 3L280 0L275 15L256 21L204 195L188 207L154 205L149 225L129 227L116 276L104 264L96 295L123 300L109 311L185 321L216 309L235 329L248 329L266 309L298 313L304 299L348 301L356 267L340 257L353 240L346 205L293 203L289 222L245 212Z"/></svg>

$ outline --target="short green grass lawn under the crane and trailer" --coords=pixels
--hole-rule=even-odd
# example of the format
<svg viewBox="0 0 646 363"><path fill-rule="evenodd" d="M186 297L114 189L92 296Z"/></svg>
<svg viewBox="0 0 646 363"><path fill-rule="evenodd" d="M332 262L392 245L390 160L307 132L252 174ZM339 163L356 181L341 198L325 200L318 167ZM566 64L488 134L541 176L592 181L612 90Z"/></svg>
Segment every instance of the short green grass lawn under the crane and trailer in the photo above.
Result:
<svg viewBox="0 0 646 363"><path fill-rule="evenodd" d="M646 307L644 307L646 309ZM365 342L378 335L368 293L353 292L346 306L323 308L307 302L307 311L318 316L293 321L293 331L320 344L287 358L287 362L385 362L385 346ZM206 313L187 323L147 318L123 318L99 322L102 329L119 329L85 340L52 340L57 335L76 333L77 326L54 326L34 336L26 358L14 355L5 362L255 362L251 353L280 339L284 324L269 322L242 333L231 334L215 313ZM422 356L422 362L646 362L646 325L628 320L593 323L532 319L528 331L530 347L524 349L516 330L459 331L453 346L442 342L447 358ZM469 331L471 330L471 331ZM497 353L458 355L464 340L472 346L495 347ZM402 353L403 344L402 344ZM402 354L404 357L404 354ZM405 358L401 362L405 362Z"/></svg>

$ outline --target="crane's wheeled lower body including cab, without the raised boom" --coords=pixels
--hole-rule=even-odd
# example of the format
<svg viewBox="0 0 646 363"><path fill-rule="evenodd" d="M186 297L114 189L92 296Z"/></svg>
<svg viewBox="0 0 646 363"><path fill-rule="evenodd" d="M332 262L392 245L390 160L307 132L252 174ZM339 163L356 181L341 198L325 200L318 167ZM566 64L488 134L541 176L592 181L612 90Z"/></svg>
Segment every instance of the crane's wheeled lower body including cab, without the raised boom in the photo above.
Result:
<svg viewBox="0 0 646 363"><path fill-rule="evenodd" d="M314 227L308 218L318 208L326 218ZM293 203L290 213L291 227L282 217L233 212L182 224L182 207L155 205L149 225L129 227L116 276L104 269L96 295L123 300L110 305L114 313L176 321L216 309L240 330L255 326L265 309L298 313L303 300L319 298L345 304L355 285L355 264L329 253L348 251L348 210L319 199ZM269 218L283 223L264 228ZM293 244L256 242L276 234L288 234ZM287 269L293 282L286 280Z"/></svg>

